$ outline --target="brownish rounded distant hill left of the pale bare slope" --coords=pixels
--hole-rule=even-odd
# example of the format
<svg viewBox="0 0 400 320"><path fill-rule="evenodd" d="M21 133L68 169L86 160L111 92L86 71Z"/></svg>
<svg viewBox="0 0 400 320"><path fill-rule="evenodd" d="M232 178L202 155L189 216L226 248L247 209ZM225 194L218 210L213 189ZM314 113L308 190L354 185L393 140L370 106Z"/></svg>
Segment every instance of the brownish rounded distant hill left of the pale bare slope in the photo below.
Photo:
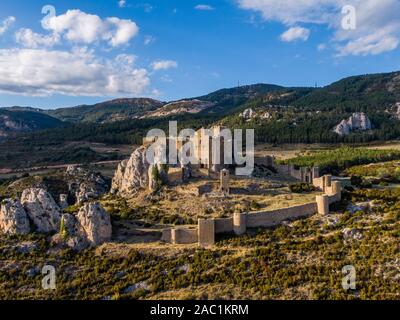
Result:
<svg viewBox="0 0 400 320"><path fill-rule="evenodd" d="M165 103L149 98L115 99L95 105L46 110L46 114L72 123L105 123L138 118Z"/></svg>

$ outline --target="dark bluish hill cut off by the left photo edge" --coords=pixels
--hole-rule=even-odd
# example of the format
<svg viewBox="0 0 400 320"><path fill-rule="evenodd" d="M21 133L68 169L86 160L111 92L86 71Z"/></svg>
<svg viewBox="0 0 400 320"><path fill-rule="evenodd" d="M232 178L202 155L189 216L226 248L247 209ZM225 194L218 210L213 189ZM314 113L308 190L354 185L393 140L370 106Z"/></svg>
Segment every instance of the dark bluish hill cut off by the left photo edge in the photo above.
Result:
<svg viewBox="0 0 400 320"><path fill-rule="evenodd" d="M30 108L0 109L0 138L18 133L61 128L66 123Z"/></svg>

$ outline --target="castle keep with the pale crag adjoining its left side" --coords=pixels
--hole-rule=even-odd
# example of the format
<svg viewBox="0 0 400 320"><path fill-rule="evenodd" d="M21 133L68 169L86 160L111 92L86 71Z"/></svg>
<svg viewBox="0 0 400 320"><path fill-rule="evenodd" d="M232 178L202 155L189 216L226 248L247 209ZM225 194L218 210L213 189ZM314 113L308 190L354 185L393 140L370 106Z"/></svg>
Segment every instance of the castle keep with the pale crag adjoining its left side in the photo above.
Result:
<svg viewBox="0 0 400 320"><path fill-rule="evenodd" d="M211 129L201 128L195 132L192 138L178 137L165 138L165 146L154 148L154 162L150 164L147 160L147 151L152 144L156 142L156 138L145 138L143 145L136 149L130 159L122 161L115 173L112 181L111 192L117 193L123 197L134 196L139 190L148 188L150 191L156 190L155 172L161 177L163 183L168 183L168 168L179 168L181 170L181 182L187 182L192 177L198 177L203 174L206 176L219 175L221 170L226 173L225 179L229 180L229 167L235 164L225 164L226 152L229 153L233 162L233 144L228 143L230 137L224 136L225 127L216 126ZM191 142L191 148L185 146L187 142ZM176 163L171 162L169 158L170 145L176 148ZM179 155L185 154L189 163L182 163ZM228 154L227 154L228 155ZM162 161L166 164L161 164ZM154 167L157 167L155 170ZM228 194L229 190L221 192Z"/></svg>

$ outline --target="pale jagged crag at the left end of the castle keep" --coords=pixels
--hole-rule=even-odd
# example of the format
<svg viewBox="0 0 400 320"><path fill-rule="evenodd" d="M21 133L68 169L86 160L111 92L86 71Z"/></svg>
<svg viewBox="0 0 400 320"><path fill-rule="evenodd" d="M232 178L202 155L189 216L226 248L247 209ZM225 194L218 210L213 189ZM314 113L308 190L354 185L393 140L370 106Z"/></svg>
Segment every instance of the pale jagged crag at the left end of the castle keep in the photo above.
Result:
<svg viewBox="0 0 400 320"><path fill-rule="evenodd" d="M129 160L122 161L112 181L111 190L121 196L129 197L149 185L150 165L146 159L145 146L137 148Z"/></svg>

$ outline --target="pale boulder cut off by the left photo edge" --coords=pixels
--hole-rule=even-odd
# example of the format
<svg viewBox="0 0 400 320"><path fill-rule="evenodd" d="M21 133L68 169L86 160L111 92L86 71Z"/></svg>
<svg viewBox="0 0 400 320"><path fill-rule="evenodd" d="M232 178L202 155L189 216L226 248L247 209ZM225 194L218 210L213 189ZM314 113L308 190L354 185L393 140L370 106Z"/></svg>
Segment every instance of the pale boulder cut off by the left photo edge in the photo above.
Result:
<svg viewBox="0 0 400 320"><path fill-rule="evenodd" d="M19 200L4 200L0 208L0 232L5 234L28 234L28 215Z"/></svg>

